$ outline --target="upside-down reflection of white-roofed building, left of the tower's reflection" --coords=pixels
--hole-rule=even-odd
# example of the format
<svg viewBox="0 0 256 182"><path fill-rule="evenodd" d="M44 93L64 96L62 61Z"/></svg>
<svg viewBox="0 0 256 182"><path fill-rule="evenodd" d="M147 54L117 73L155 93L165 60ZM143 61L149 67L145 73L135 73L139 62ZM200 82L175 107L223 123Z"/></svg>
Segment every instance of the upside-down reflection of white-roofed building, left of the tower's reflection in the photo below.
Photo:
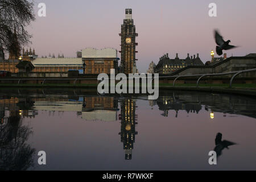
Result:
<svg viewBox="0 0 256 182"><path fill-rule="evenodd" d="M114 97L34 98L35 110L46 110L49 115L76 111L86 121L117 121L118 101Z"/></svg>

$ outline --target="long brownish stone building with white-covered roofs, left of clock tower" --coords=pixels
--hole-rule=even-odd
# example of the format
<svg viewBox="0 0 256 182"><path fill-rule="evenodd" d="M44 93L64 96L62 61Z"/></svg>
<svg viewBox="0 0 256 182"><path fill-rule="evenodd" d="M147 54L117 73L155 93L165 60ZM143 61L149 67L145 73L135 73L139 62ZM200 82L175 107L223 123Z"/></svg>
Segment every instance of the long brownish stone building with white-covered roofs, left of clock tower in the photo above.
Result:
<svg viewBox="0 0 256 182"><path fill-rule="evenodd" d="M83 73L83 64L85 63L85 74L110 74L110 69L115 69L115 73L118 73L118 59L117 50L113 48L101 50L86 48L82 50L80 58L38 58L35 55L35 50L24 51L23 49L22 61L31 61L35 67L32 72L36 73L67 73L70 70L78 70ZM18 73L16 65L19 63L18 59L0 59L0 70Z"/></svg>

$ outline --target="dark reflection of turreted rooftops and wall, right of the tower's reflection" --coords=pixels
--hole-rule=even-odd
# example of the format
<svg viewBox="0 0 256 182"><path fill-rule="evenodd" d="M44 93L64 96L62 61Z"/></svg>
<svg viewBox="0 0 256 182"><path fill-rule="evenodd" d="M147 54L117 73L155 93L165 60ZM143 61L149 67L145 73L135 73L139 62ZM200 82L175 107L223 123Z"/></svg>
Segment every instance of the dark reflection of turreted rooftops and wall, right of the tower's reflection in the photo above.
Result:
<svg viewBox="0 0 256 182"><path fill-rule="evenodd" d="M223 117L227 117L226 114L228 113L256 118L255 100L228 94L172 92L159 96L156 101L150 101L149 105L151 107L158 105L159 110L163 111L161 115L164 117L168 117L170 110L175 111L175 117L178 117L180 110L199 114L202 106L204 106L205 110L209 111L209 117L212 119L214 113L223 113Z"/></svg>

